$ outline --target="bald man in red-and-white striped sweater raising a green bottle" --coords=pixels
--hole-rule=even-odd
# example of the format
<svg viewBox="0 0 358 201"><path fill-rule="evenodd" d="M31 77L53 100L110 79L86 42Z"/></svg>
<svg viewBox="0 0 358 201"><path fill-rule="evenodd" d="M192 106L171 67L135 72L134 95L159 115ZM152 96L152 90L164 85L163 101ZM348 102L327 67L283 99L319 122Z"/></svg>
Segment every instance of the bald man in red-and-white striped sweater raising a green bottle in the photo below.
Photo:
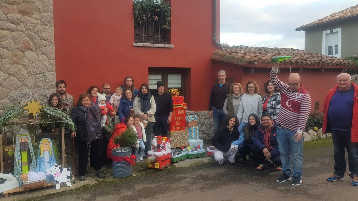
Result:
<svg viewBox="0 0 358 201"><path fill-rule="evenodd" d="M279 62L274 63L270 73L270 82L281 93L281 108L275 122L277 127L277 142L279 143L280 158L282 162L282 176L276 181L283 183L294 177L291 186L302 183L302 150L303 132L308 116L311 112L310 94L303 88L300 75L291 73L287 79L288 84L277 78ZM290 169L292 155L292 172Z"/></svg>

